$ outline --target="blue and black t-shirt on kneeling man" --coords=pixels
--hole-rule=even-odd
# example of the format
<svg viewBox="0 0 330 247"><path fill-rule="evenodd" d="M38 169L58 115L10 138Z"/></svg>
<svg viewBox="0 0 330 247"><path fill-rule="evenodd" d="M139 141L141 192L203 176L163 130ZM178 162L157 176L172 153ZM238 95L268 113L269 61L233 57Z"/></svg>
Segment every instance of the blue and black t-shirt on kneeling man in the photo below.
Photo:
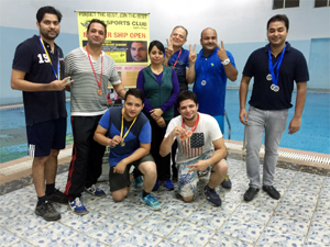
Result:
<svg viewBox="0 0 330 247"><path fill-rule="evenodd" d="M101 127L108 130L108 136L120 136L121 131L121 113L122 106L116 106L108 109L108 111L101 117L99 124ZM124 130L123 135L128 132L133 121L128 122L123 120ZM147 117L141 112L130 130L129 134L124 138L125 145L122 147L120 144L114 148L111 148L109 155L110 167L117 166L122 159L132 155L140 148L140 143L151 143L151 125Z"/></svg>

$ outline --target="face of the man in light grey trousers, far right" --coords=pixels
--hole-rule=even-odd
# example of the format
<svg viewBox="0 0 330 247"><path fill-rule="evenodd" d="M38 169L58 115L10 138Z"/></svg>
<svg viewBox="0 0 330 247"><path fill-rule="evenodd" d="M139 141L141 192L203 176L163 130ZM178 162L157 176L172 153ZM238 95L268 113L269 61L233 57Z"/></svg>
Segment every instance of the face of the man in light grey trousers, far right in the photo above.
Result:
<svg viewBox="0 0 330 247"><path fill-rule="evenodd" d="M267 37L273 46L282 46L285 43L288 30L283 21L271 22L267 31Z"/></svg>

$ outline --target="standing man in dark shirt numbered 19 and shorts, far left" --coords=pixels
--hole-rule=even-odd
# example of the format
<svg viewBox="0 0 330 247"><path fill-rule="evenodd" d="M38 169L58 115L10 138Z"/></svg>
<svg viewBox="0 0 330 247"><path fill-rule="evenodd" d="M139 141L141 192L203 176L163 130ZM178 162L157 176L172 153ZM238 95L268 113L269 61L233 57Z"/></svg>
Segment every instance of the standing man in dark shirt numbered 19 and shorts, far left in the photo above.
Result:
<svg viewBox="0 0 330 247"><path fill-rule="evenodd" d="M63 53L54 42L61 19L61 12L53 7L37 11L40 36L34 35L18 46L11 75L11 88L23 91L29 155L33 157L32 176L37 194L34 212L46 221L61 218L52 202L67 202L55 189L57 157L59 149L65 148L66 137L64 88L73 82L69 77L63 79Z"/></svg>

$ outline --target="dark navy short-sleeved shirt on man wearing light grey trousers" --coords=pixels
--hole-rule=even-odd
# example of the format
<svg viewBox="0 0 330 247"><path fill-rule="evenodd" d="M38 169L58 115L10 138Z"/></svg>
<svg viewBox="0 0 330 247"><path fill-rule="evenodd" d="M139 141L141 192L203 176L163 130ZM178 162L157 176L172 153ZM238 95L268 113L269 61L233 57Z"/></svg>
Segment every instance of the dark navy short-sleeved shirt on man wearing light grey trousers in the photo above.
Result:
<svg viewBox="0 0 330 247"><path fill-rule="evenodd" d="M254 50L245 64L243 76L254 77L252 96L249 103L261 110L289 109L293 106L292 94L294 81L299 83L309 80L306 59L299 50L293 48L289 43L286 43L277 81L279 91L274 92L271 90L272 80L268 81L266 79L270 74L268 47L270 44ZM275 58L272 55L273 65L275 65L279 56ZM276 69L274 69L274 74L277 75Z"/></svg>

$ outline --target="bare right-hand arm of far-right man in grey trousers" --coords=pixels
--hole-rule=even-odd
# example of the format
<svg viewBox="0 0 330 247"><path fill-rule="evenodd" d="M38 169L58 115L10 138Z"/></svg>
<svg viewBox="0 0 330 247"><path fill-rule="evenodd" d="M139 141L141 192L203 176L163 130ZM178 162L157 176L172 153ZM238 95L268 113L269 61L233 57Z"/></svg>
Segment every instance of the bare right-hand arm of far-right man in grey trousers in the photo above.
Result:
<svg viewBox="0 0 330 247"><path fill-rule="evenodd" d="M294 134L299 131L301 125L301 114L306 100L306 87L307 82L297 83L297 99L296 99L296 109L295 115L289 124L289 134Z"/></svg>

